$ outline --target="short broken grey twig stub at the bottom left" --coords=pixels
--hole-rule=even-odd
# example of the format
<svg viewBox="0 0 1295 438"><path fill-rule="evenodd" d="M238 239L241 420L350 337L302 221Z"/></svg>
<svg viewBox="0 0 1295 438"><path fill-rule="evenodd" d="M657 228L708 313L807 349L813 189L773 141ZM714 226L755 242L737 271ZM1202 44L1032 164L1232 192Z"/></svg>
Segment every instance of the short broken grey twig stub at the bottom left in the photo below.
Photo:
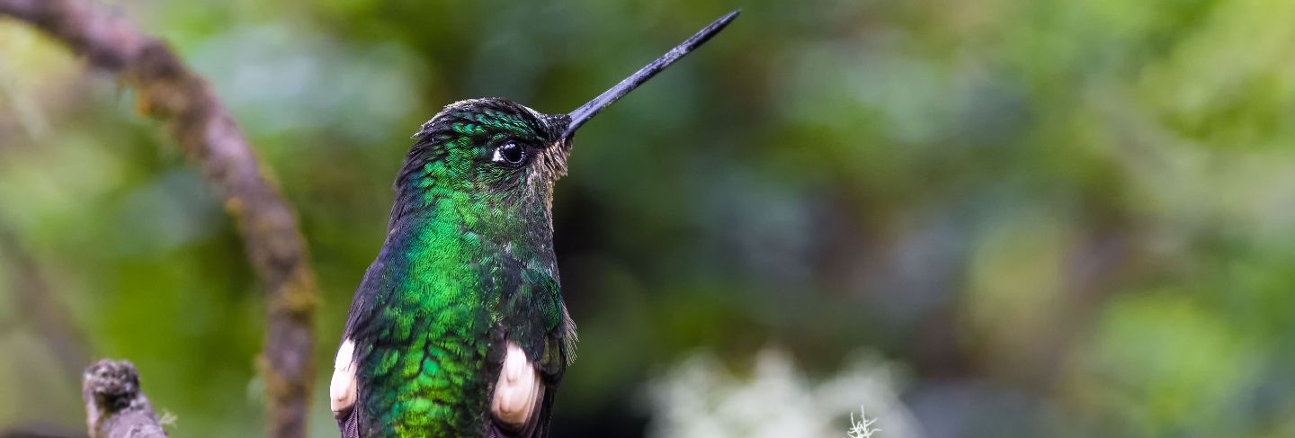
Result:
<svg viewBox="0 0 1295 438"><path fill-rule="evenodd" d="M89 438L166 438L133 364L104 359L85 368L84 378Z"/></svg>

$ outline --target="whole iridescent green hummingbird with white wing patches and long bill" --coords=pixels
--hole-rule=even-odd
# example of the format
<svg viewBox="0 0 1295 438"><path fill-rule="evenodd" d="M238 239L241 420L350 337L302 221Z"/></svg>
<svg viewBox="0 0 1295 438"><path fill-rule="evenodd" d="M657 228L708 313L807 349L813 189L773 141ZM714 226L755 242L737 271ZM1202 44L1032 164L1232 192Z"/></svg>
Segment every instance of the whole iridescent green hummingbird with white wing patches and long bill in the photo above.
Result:
<svg viewBox="0 0 1295 438"><path fill-rule="evenodd" d="M553 253L553 185L571 137L738 13L569 114L491 97L422 124L335 356L329 402L343 438L548 435L575 359Z"/></svg>

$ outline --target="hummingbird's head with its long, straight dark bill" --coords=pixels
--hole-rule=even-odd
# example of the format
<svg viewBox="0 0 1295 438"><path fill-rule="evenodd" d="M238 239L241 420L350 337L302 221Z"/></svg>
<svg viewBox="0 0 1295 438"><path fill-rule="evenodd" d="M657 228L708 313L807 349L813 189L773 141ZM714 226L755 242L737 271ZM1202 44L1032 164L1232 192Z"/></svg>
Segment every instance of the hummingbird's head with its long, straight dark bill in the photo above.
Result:
<svg viewBox="0 0 1295 438"><path fill-rule="evenodd" d="M566 175L575 131L706 43L737 14L734 10L721 17L570 114L545 115L505 98L465 100L445 106L414 135L417 141L396 180L399 194L392 219L447 198L505 216L532 213L548 216L553 183Z"/></svg>

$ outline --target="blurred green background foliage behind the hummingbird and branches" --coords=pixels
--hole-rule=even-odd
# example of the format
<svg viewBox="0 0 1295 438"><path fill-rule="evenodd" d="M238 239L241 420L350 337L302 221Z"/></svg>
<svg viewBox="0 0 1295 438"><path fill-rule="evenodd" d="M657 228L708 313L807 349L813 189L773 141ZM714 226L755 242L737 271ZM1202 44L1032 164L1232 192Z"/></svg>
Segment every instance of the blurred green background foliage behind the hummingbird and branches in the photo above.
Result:
<svg viewBox="0 0 1295 438"><path fill-rule="evenodd" d="M1295 1L109 1L232 109L319 270L312 435L409 135L574 109L554 433L1295 435ZM0 429L133 360L177 437L262 432L262 290L132 91L0 19Z"/></svg>

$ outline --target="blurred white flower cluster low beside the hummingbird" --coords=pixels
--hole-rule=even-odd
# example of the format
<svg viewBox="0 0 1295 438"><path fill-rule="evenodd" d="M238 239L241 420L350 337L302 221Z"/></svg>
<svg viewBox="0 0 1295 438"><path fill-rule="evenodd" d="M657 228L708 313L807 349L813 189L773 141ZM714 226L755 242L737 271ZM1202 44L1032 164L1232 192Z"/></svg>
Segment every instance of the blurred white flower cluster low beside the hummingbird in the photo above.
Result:
<svg viewBox="0 0 1295 438"><path fill-rule="evenodd" d="M884 438L919 438L896 395L896 371L879 355L860 354L831 376L808 378L782 350L760 351L742 371L695 354L649 387L649 437L881 438L875 419L855 420L862 403L886 419Z"/></svg>

